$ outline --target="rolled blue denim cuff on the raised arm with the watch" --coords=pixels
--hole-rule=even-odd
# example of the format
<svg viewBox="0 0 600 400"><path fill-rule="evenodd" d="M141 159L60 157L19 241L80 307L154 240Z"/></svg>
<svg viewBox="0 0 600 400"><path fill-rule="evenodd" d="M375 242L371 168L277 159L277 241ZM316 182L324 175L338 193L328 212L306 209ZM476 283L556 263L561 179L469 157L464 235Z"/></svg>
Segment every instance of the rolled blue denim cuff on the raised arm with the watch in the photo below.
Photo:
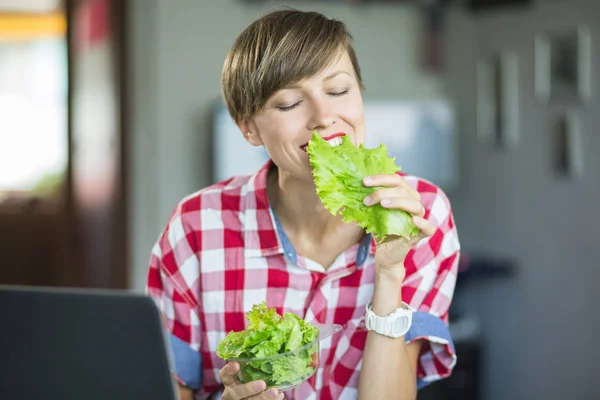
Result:
<svg viewBox="0 0 600 400"><path fill-rule="evenodd" d="M429 351L419 359L424 375L417 380L418 389L452 373L456 364L454 342L448 326L439 317L426 312L414 312L412 325L404 339L407 343L418 339L429 342Z"/></svg>

